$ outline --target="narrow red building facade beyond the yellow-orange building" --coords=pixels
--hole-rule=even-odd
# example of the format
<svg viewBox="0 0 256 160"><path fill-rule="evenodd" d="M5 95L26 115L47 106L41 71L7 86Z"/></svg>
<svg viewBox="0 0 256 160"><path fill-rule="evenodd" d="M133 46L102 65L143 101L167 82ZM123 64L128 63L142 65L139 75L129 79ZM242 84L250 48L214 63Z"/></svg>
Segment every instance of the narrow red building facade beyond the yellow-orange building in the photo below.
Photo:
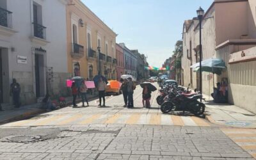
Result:
<svg viewBox="0 0 256 160"><path fill-rule="evenodd" d="M124 74L124 49L116 44L116 79L120 80L120 77Z"/></svg>

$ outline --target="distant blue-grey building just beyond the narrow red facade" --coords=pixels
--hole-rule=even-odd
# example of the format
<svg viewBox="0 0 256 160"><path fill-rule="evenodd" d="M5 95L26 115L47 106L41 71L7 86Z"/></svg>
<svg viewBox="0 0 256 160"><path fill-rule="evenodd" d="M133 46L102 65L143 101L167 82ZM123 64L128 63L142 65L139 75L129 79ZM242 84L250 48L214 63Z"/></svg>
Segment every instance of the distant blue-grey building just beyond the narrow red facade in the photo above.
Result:
<svg viewBox="0 0 256 160"><path fill-rule="evenodd" d="M124 49L124 74L129 74L137 78L137 59L136 56L128 49L124 43L119 44Z"/></svg>

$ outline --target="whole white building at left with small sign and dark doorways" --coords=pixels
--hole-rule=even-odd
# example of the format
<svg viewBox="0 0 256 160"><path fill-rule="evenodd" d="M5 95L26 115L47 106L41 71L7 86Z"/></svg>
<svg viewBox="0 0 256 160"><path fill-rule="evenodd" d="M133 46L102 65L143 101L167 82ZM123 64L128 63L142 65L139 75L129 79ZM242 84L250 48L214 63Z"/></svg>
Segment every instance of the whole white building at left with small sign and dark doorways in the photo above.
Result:
<svg viewBox="0 0 256 160"><path fill-rule="evenodd" d="M22 104L36 102L47 92L67 95L66 4L65 0L0 1L0 102L4 106L12 104L13 78L20 84Z"/></svg>

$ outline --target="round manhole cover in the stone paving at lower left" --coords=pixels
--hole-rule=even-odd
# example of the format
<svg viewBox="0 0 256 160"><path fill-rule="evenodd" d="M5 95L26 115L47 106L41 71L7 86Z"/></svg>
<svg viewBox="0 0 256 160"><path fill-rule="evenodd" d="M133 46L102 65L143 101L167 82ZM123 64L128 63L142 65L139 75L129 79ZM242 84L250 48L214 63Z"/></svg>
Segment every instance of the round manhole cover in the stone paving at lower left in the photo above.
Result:
<svg viewBox="0 0 256 160"><path fill-rule="evenodd" d="M19 136L9 136L5 138L5 141L9 142L19 142L19 143L29 143L33 141L40 140L40 136L31 136L31 135L19 135Z"/></svg>

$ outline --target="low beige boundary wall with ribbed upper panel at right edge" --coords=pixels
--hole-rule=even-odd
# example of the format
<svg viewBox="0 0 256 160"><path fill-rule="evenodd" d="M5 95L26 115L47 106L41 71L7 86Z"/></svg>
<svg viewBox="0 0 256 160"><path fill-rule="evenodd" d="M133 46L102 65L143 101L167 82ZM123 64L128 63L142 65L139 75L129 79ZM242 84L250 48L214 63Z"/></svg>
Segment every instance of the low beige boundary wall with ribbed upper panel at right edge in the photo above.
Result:
<svg viewBox="0 0 256 160"><path fill-rule="evenodd" d="M232 53L235 60L255 58L256 47L244 50L245 57L241 58L241 51ZM232 60L230 60L232 62ZM256 113L256 61L244 61L229 65L228 100L236 106Z"/></svg>

